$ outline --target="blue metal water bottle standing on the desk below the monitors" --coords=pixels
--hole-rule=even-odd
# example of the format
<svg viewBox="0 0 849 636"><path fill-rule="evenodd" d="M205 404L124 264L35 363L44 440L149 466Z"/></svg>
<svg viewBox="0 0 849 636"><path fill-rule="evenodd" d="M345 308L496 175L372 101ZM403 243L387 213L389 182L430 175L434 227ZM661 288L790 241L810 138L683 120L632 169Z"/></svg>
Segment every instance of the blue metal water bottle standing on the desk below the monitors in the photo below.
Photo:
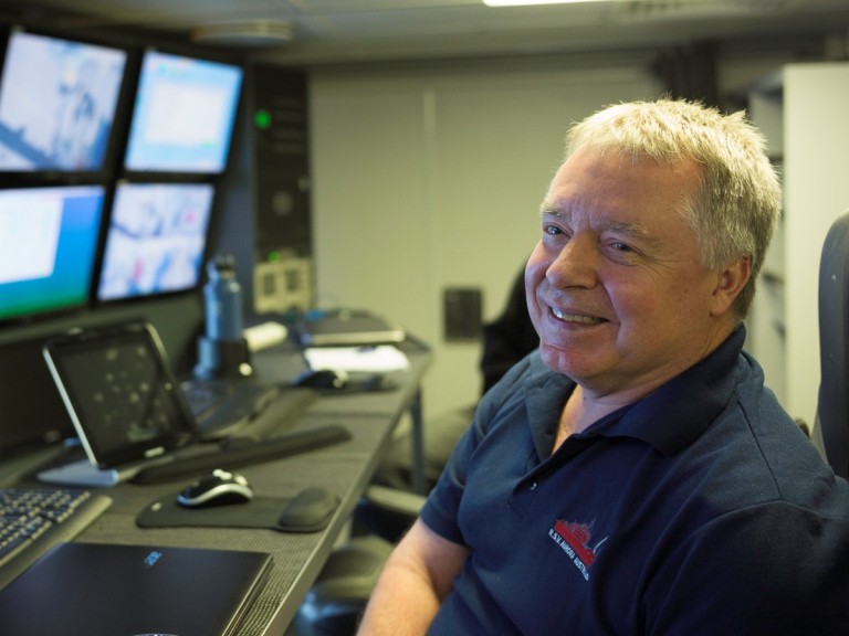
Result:
<svg viewBox="0 0 849 636"><path fill-rule="evenodd" d="M207 264L203 287L207 338L213 341L242 339L242 287L235 278L235 259L221 254Z"/></svg>

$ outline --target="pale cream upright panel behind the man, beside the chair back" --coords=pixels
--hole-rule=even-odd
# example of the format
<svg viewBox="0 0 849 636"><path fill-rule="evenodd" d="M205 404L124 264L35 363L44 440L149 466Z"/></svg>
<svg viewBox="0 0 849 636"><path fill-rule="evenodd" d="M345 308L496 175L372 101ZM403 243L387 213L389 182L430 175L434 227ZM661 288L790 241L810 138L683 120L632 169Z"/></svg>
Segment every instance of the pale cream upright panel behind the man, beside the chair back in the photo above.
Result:
<svg viewBox="0 0 849 636"><path fill-rule="evenodd" d="M819 389L819 257L831 222L849 209L849 64L784 70L787 400L813 423Z"/></svg>

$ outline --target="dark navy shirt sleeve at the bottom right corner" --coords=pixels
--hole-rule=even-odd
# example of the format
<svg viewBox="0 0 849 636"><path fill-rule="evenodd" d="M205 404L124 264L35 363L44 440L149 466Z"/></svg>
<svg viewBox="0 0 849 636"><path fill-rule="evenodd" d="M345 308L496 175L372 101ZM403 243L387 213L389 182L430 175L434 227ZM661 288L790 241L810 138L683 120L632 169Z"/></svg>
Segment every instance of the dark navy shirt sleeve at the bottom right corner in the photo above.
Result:
<svg viewBox="0 0 849 636"><path fill-rule="evenodd" d="M720 517L650 573L646 634L846 635L848 515L776 501Z"/></svg>

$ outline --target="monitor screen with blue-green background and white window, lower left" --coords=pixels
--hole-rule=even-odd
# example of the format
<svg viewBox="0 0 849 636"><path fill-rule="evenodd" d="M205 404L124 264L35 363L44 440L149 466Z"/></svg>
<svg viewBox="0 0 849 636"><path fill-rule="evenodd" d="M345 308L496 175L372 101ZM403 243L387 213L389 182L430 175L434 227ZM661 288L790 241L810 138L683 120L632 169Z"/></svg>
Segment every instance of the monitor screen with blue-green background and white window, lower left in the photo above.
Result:
<svg viewBox="0 0 849 636"><path fill-rule="evenodd" d="M104 189L0 190L0 319L87 304Z"/></svg>

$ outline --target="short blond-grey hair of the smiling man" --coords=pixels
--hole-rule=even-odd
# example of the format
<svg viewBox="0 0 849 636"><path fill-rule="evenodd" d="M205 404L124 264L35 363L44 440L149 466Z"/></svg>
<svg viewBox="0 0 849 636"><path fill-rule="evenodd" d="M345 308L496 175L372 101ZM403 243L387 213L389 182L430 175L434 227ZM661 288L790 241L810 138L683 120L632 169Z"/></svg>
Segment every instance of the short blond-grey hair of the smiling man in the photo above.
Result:
<svg viewBox="0 0 849 636"><path fill-rule="evenodd" d="M734 306L745 317L782 208L766 141L745 114L668 98L617 104L572 127L566 153L585 147L702 167L699 189L678 211L695 233L703 266L720 269L748 257L750 280Z"/></svg>

